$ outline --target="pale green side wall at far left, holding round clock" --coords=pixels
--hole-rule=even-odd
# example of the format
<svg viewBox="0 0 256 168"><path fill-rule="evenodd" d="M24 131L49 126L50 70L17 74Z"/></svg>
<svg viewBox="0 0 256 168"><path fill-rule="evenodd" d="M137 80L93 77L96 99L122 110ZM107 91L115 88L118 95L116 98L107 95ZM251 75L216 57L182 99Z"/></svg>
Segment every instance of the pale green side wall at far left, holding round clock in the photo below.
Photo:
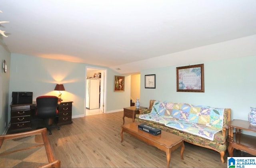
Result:
<svg viewBox="0 0 256 168"><path fill-rule="evenodd" d="M2 37L0 37L0 134L3 134L8 125L8 99L9 99L9 81L10 81L10 59L11 54L5 47ZM2 63L6 61L7 72L4 73ZM6 123L6 127L5 127Z"/></svg>

